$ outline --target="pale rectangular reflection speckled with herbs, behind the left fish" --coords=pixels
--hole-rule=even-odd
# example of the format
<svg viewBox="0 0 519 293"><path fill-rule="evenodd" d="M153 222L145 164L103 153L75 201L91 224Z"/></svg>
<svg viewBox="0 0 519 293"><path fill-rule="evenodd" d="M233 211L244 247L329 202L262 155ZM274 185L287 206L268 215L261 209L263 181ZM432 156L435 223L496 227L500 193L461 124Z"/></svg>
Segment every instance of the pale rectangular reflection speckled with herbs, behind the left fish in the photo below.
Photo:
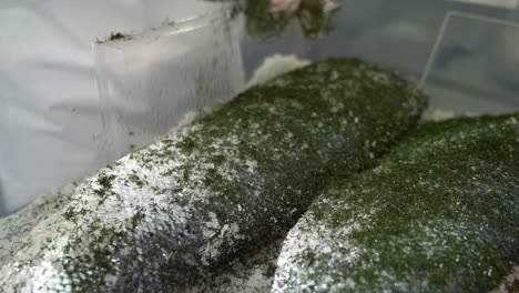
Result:
<svg viewBox="0 0 519 293"><path fill-rule="evenodd" d="M243 89L241 23L216 13L95 47L108 162Z"/></svg>

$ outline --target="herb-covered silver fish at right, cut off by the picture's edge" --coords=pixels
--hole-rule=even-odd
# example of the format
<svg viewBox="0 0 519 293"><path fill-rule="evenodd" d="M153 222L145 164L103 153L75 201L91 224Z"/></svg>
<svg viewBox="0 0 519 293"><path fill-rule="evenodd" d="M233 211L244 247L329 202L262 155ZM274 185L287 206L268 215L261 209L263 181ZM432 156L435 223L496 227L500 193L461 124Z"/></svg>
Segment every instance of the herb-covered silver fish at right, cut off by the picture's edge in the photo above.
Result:
<svg viewBox="0 0 519 293"><path fill-rule="evenodd" d="M330 183L273 292L488 292L519 262L519 114L427 123Z"/></svg>

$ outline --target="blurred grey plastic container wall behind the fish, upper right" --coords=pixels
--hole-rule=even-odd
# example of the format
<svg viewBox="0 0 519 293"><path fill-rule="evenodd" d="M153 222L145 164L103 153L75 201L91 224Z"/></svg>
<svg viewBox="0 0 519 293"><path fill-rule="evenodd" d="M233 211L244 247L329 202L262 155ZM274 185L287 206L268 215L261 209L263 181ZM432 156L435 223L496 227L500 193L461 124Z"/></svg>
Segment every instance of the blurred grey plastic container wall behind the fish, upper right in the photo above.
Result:
<svg viewBox="0 0 519 293"><path fill-rule="evenodd" d="M432 108L455 112L519 110L519 2L516 0L344 0L335 29L324 38L302 36L297 20L281 38L247 36L250 77L263 58L359 57L420 82Z"/></svg>

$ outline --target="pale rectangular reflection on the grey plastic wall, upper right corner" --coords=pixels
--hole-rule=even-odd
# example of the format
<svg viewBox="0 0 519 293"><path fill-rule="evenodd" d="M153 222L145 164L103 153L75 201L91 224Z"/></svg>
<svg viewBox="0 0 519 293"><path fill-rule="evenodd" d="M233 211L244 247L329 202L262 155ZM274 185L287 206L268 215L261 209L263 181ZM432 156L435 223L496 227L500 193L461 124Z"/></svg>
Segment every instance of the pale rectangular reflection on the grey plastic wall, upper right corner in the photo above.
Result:
<svg viewBox="0 0 519 293"><path fill-rule="evenodd" d="M518 109L519 22L448 12L420 83L435 97L435 108L470 113Z"/></svg>

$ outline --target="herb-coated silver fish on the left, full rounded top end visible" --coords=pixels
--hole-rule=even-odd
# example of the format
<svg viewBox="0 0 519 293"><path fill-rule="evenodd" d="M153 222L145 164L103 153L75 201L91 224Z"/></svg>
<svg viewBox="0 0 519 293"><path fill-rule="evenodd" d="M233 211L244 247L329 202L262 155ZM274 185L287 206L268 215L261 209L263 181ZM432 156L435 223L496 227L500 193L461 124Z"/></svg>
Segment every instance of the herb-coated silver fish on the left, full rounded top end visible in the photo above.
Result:
<svg viewBox="0 0 519 293"><path fill-rule="evenodd" d="M329 176L372 165L425 105L355 59L281 75L78 184L2 257L0 287L177 291L289 229Z"/></svg>

